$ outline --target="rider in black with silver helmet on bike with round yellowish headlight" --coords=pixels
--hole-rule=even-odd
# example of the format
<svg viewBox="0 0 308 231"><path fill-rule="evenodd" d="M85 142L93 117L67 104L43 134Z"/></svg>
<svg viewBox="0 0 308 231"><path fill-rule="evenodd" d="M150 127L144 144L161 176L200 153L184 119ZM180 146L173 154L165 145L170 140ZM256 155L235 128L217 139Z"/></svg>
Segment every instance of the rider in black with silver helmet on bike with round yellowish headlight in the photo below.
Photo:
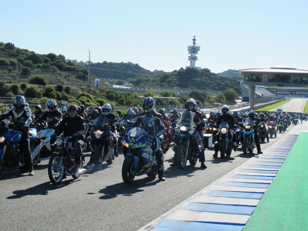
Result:
<svg viewBox="0 0 308 231"><path fill-rule="evenodd" d="M217 112L218 113L218 112ZM236 148L236 133L233 131L234 125L235 125L235 120L234 117L232 115L229 114L229 107L227 105L224 105L221 107L221 115L217 118L216 120L216 124L219 125L222 122L227 122L227 124L229 125L229 133L228 133L228 139L232 140L232 147L233 150L236 152L237 148ZM217 141L219 143L219 133L217 133ZM219 151L219 145L214 145L215 148L215 152L213 154L213 156L218 156L218 151Z"/></svg>

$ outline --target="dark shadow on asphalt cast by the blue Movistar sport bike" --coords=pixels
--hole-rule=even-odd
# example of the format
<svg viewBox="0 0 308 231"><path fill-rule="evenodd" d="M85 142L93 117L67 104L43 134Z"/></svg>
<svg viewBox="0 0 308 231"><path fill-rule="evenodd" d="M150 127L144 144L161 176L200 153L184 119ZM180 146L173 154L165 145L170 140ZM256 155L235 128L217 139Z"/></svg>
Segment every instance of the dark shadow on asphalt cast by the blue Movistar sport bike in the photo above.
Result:
<svg viewBox="0 0 308 231"><path fill-rule="evenodd" d="M159 181L156 179L157 178L145 177L142 179L134 180L131 184L125 184L123 182L123 183L108 185L106 186L106 188L99 190L99 193L104 194L103 196L99 197L99 199L108 200L115 198L118 195L132 196L132 194L134 193L139 193L144 191L144 189L139 189L139 188L149 187L157 184ZM93 193L87 193L87 194L93 194Z"/></svg>

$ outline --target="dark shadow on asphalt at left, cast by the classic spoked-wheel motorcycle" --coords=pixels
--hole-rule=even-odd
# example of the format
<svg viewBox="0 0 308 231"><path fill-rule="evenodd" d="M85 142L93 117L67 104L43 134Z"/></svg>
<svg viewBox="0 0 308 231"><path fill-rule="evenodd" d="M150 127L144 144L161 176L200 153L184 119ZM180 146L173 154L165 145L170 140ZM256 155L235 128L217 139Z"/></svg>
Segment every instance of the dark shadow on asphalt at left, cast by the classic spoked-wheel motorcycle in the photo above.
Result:
<svg viewBox="0 0 308 231"><path fill-rule="evenodd" d="M6 199L17 199L28 195L48 195L48 191L56 190L59 188L63 188L68 184L71 184L73 181L77 181L74 179L62 181L61 184L55 185L52 184L50 181L44 182L42 184L35 185L31 188L23 189L23 190L16 190L13 192L14 195L6 197Z"/></svg>

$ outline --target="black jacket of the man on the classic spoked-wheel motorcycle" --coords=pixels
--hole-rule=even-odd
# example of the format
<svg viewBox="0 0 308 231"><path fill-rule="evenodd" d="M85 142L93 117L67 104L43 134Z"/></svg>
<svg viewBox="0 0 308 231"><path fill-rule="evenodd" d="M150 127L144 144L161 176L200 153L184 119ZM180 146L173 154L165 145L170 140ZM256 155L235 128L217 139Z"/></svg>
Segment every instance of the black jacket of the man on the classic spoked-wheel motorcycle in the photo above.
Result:
<svg viewBox="0 0 308 231"><path fill-rule="evenodd" d="M63 137L67 137L74 135L76 132L84 131L85 129L86 124L81 116L76 115L74 118L65 116L59 126L55 128L55 134L60 135L61 132L63 132Z"/></svg>

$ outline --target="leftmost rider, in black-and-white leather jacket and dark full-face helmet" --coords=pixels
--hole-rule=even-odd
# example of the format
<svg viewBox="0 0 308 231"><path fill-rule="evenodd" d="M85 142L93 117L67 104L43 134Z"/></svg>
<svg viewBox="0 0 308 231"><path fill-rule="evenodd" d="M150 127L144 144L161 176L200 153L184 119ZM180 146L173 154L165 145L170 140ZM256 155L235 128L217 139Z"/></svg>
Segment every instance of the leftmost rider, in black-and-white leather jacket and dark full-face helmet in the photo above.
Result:
<svg viewBox="0 0 308 231"><path fill-rule="evenodd" d="M25 107L26 100L22 95L16 95L13 99L13 107L9 107L6 112L0 115L0 121L11 116L13 121L13 129L21 132L20 144L24 152L25 165L29 169L29 176L33 176L33 162L29 144L29 125L32 122L31 111L29 107ZM20 125L19 122L25 124Z"/></svg>

